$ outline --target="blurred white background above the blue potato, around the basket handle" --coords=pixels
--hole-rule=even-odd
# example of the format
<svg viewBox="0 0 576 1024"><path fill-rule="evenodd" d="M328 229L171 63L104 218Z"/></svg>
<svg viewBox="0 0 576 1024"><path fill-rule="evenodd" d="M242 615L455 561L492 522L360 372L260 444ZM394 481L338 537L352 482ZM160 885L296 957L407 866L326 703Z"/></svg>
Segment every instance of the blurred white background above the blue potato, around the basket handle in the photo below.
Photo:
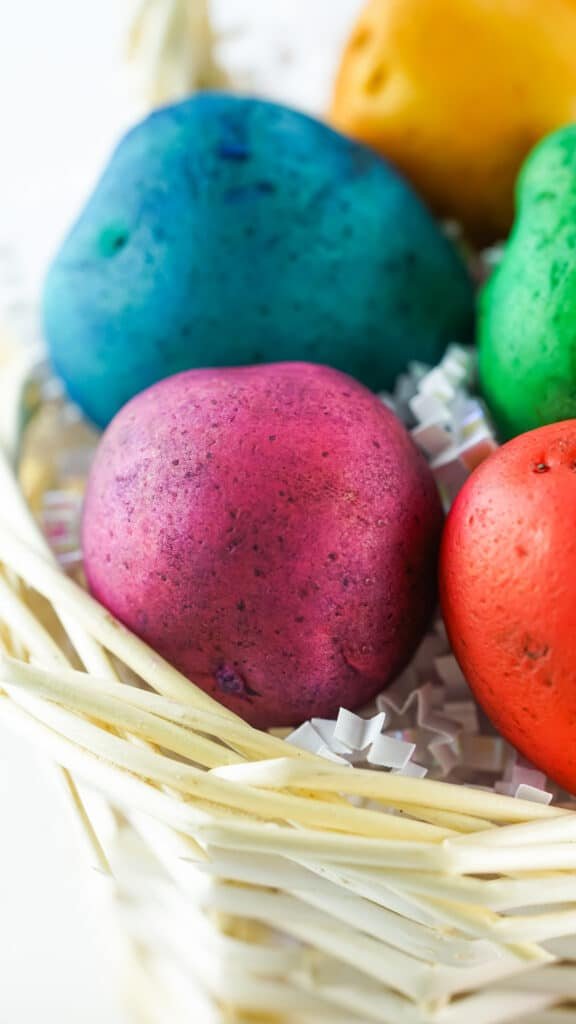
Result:
<svg viewBox="0 0 576 1024"><path fill-rule="evenodd" d="M190 8L204 6L189 0ZM181 0L0 0L0 232L38 279L111 147L142 112ZM217 55L249 91L321 112L359 0L212 0ZM126 62L148 8L145 61Z"/></svg>

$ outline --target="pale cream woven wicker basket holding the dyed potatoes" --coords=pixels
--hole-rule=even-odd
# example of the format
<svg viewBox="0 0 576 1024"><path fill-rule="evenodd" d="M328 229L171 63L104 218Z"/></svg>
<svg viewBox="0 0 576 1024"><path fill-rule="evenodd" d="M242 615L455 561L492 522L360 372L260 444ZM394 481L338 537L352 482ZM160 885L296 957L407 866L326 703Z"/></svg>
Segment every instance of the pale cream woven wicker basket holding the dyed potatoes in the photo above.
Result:
<svg viewBox="0 0 576 1024"><path fill-rule="evenodd" d="M56 563L35 513L85 428L48 402L23 450L38 388L3 373L0 721L116 877L131 1019L576 1022L576 814L331 764L215 703Z"/></svg>

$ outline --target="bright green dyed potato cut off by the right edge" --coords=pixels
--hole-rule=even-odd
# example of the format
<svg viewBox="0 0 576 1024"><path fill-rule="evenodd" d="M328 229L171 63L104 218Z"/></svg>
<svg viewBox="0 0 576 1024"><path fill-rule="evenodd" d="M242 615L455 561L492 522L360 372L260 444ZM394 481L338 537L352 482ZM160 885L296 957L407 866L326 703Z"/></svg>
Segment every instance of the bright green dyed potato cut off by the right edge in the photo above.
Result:
<svg viewBox="0 0 576 1024"><path fill-rule="evenodd" d="M480 373L503 437L576 416L576 125L534 151L482 301Z"/></svg>

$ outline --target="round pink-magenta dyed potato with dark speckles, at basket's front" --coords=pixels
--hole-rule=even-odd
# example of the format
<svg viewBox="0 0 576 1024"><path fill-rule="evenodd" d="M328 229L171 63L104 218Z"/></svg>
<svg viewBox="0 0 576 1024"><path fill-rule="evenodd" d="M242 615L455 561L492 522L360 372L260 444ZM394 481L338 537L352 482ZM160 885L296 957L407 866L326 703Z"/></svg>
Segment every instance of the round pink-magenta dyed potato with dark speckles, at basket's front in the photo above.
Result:
<svg viewBox="0 0 576 1024"><path fill-rule="evenodd" d="M396 417L325 367L193 370L125 406L90 474L92 593L262 728L358 708L436 597L442 510Z"/></svg>

